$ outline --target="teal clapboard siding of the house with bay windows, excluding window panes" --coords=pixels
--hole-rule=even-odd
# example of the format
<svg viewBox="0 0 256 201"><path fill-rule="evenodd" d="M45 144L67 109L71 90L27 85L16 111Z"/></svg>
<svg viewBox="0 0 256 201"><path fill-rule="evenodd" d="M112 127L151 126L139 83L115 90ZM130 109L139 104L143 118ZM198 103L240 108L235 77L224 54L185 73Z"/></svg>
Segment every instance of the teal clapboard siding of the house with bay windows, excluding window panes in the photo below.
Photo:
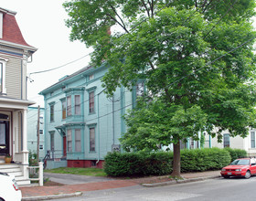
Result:
<svg viewBox="0 0 256 201"><path fill-rule="evenodd" d="M101 78L108 68L87 67L59 79L59 82L42 90L45 99L45 153L53 150L55 157L63 157L66 136L68 160L103 160L113 148L120 147L119 138L126 131L123 115L133 107L133 93L123 87L107 98L101 87ZM94 92L94 111L90 112L90 93ZM80 114L75 114L75 95L80 95ZM62 119L62 101L71 97L71 115ZM54 120L50 122L50 106L54 107ZM95 151L90 151L90 128L95 131ZM76 152L75 130L80 129L80 152ZM68 143L71 130L71 143ZM71 147L70 145L71 144ZM69 148L70 147L70 148Z"/></svg>

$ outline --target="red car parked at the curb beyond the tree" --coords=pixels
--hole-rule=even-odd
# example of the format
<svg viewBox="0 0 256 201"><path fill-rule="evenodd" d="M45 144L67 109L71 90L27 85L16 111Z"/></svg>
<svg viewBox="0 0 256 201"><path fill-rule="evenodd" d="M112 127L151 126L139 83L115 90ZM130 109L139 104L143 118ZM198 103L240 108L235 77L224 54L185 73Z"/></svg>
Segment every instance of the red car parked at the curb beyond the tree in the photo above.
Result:
<svg viewBox="0 0 256 201"><path fill-rule="evenodd" d="M228 166L223 167L220 175L224 178L229 178L230 176L243 176L249 179L251 175L256 175L256 160L255 158L236 159Z"/></svg>

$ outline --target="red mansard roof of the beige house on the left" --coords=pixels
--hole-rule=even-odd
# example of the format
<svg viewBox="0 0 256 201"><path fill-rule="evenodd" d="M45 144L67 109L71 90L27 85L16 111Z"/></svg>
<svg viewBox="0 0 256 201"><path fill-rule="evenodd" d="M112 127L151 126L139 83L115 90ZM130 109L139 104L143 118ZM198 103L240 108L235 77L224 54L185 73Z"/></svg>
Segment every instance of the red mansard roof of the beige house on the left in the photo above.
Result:
<svg viewBox="0 0 256 201"><path fill-rule="evenodd" d="M14 45L17 48L27 48L28 50L36 51L37 48L28 45L22 36L22 33L16 22L16 12L7 10L2 7L0 7L0 12L3 13L3 36L0 38L0 43L4 43L6 45Z"/></svg>

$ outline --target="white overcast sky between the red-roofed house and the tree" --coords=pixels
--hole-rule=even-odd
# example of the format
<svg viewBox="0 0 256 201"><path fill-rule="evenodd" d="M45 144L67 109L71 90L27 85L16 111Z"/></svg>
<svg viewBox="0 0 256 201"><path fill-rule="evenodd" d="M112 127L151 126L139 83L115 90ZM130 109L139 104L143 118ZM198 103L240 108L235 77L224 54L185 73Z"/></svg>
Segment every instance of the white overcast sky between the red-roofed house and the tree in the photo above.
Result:
<svg viewBox="0 0 256 201"><path fill-rule="evenodd" d="M16 11L16 21L27 44L37 48L32 63L27 64L27 75L31 72L53 69L81 58L72 64L53 71L31 75L33 82L27 82L28 100L34 100L33 106L44 107L43 97L38 95L41 90L56 83L65 75L87 66L90 57L79 41L70 42L70 29L64 20L68 14L63 8L64 0L0 0L0 6Z"/></svg>

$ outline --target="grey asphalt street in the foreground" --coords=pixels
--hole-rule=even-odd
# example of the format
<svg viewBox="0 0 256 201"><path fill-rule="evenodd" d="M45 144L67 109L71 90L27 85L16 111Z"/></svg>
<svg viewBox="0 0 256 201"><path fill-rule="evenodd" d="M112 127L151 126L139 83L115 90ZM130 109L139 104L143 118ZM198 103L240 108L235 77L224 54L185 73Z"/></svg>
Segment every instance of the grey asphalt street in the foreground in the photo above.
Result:
<svg viewBox="0 0 256 201"><path fill-rule="evenodd" d="M59 201L240 201L255 200L256 176L244 178L217 178L187 184L161 187L140 185L109 190L83 192L82 196L56 199Z"/></svg>

